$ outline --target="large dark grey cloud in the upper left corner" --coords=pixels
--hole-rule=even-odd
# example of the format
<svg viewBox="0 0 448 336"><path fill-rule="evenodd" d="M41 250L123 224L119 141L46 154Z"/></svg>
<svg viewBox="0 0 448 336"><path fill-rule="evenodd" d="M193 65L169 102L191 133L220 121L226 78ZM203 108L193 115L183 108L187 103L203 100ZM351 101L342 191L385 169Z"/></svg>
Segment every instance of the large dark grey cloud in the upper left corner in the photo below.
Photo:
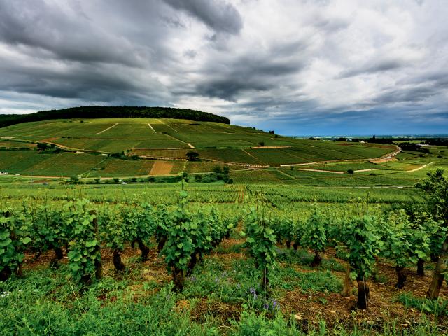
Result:
<svg viewBox="0 0 448 336"><path fill-rule="evenodd" d="M121 41L121 48L117 48L116 36L97 29L79 11L60 9L42 0L0 1L1 41L46 50L53 57L78 62L138 66L146 57L127 41Z"/></svg>

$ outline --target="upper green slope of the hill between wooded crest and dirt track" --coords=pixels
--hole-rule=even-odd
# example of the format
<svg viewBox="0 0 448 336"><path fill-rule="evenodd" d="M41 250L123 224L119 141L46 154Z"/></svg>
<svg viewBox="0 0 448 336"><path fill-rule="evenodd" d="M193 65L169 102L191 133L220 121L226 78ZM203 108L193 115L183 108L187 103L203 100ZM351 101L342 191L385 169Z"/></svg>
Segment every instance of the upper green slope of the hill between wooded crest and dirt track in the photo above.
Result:
<svg viewBox="0 0 448 336"><path fill-rule="evenodd" d="M154 118L45 120L20 123L1 128L0 137L46 141L70 148L111 153L133 148L190 148L188 144L198 149L250 149L259 146L260 143L264 143L264 146L292 146L297 151L310 152L310 158L320 160L376 158L393 151L391 146L375 147L361 144L339 146L332 143L324 144L323 141L281 137L250 127ZM260 158L262 162L279 162L272 151L259 154L262 155ZM291 159L295 159L294 155Z"/></svg>

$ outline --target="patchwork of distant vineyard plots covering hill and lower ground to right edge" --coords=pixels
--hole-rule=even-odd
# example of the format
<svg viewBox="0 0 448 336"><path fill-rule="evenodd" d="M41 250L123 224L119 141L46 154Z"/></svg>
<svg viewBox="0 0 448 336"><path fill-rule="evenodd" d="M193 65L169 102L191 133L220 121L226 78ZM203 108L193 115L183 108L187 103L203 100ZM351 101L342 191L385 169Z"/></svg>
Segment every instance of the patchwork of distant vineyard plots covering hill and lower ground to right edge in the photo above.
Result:
<svg viewBox="0 0 448 336"><path fill-rule="evenodd" d="M395 158L372 161L385 158L396 147L294 139L251 127L179 119L44 120L0 128L0 137L1 172L79 176L87 182L208 174L227 166L236 184L413 186L426 172L446 167L448 160L446 148L433 146L430 154L402 151ZM59 146L62 152L39 151L38 143ZM186 162L188 151L199 153L200 160ZM131 156L137 160L124 160ZM349 170L354 174L346 173Z"/></svg>

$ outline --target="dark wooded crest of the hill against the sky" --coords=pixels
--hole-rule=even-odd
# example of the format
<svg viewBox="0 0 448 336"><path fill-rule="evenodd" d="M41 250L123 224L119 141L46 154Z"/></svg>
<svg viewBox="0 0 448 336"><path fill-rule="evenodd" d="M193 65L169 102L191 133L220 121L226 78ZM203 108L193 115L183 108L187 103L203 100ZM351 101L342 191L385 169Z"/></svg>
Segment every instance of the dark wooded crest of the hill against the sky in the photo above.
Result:
<svg viewBox="0 0 448 336"><path fill-rule="evenodd" d="M3 114L0 115L0 127L31 121L71 118L176 118L230 124L228 118L190 109L147 106L80 106L25 115Z"/></svg>

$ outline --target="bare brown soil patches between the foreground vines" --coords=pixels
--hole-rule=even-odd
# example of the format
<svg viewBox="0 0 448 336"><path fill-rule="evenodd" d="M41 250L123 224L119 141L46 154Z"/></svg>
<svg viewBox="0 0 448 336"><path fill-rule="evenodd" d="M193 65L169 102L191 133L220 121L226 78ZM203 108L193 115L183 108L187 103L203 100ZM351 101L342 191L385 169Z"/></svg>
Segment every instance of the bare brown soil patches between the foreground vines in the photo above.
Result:
<svg viewBox="0 0 448 336"><path fill-rule="evenodd" d="M231 265L233 260L248 258L244 251L232 248L233 246L241 245L243 239L226 239L218 247L218 251L211 253L211 257L222 258L225 264ZM282 246L283 247L283 246ZM49 265L53 252L48 251L43 253L37 260L35 255L28 253L25 256L24 269L30 269L38 266ZM132 268L134 260L139 258L140 251L137 248L126 247L122 253L123 262L125 265ZM322 253L323 258L334 258L340 264L346 266L344 260L339 260L336 257L334 248L327 248L325 253ZM136 297L139 292L143 292L143 283L148 281L155 281L156 283L167 283L171 281L171 276L168 274L165 267L165 262L158 255L156 248L151 248L148 255L149 260L140 263L138 267L143 269L139 279L135 279L132 286L128 290L135 292ZM210 258L210 257L207 257ZM115 272L113 268L113 253L109 248L102 249L102 262L104 269L104 276L120 277L120 274ZM68 262L66 253L62 263ZM297 270L300 272L314 272L313 269L297 265ZM344 272L332 271L332 274L339 277L341 281L344 279ZM279 299L279 307L283 312L283 316L290 316L294 318L297 323L302 325L302 328L309 328L311 325L316 326L318 321L324 319L327 328L332 328L335 325L344 325L346 328L353 328L353 325L363 325L372 330L381 331L386 321L391 321L393 318L398 321L398 328L404 330L411 325L421 323L422 313L418 309L405 308L403 304L396 300L396 297L402 292L410 292L416 297L425 297L426 290L429 287L432 272L426 270L424 276L417 276L416 269L408 269L407 282L405 288L402 290L395 288L395 270L393 265L385 260L377 260L377 274L381 282L369 279L367 281L370 286L370 300L367 309L356 309L356 290L353 290L350 297L342 297L339 293L307 293L300 288L286 291L283 297ZM353 289L356 288L356 283L353 284ZM143 295L143 294L142 294ZM146 293L147 295L147 293ZM440 297L444 300L448 298L448 288L446 283L443 284L440 292ZM101 300L101 297L99 298ZM239 313L242 308L239 305L226 304L224 302L217 302L216 300L209 301L207 297L199 299L195 302L194 307L190 306L187 300L179 300L176 309L190 310L190 316L195 321L202 321L207 314L219 316L223 321L223 325L227 325L229 318L238 320ZM429 320L433 320L434 316L427 315ZM440 327L440 332L447 332L448 318L441 316L437 320L437 325Z"/></svg>

